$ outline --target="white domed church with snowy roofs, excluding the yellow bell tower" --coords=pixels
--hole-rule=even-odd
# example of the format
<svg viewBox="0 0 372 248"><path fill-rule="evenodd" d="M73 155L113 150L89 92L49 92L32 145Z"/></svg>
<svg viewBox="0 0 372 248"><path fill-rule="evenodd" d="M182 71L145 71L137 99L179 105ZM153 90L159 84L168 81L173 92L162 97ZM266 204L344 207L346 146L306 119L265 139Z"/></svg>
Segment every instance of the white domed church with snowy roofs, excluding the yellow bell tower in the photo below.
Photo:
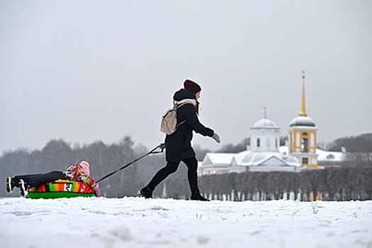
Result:
<svg viewBox="0 0 372 248"><path fill-rule="evenodd" d="M280 128L272 121L264 118L254 123L251 128L251 150L239 153L205 154L198 174L225 174L242 171L301 171L298 160L288 154L288 150L279 150Z"/></svg>

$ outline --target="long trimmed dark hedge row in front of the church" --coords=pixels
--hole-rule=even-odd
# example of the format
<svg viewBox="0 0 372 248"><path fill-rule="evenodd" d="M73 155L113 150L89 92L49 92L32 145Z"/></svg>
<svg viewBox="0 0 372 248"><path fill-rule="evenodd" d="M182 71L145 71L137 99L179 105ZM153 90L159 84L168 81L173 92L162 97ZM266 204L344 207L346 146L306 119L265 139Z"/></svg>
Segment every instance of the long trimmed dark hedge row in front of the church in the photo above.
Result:
<svg viewBox="0 0 372 248"><path fill-rule="evenodd" d="M372 167L345 167L295 172L243 172L202 176L205 196L215 200L351 201L372 199ZM167 197L188 198L186 179L165 182ZM157 194L162 196L164 185Z"/></svg>

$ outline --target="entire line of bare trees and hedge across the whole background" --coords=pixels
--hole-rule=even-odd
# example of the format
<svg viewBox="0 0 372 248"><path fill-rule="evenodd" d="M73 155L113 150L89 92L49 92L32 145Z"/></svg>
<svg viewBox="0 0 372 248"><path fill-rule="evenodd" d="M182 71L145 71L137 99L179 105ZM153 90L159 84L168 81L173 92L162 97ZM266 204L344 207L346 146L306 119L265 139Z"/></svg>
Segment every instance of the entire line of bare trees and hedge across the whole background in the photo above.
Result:
<svg viewBox="0 0 372 248"><path fill-rule="evenodd" d="M284 140L283 140L284 142ZM249 139L238 145L225 145L220 152L244 150ZM332 150L346 147L346 160L341 169L290 172L245 172L241 174L210 175L199 178L201 191L218 199L265 200L288 198L292 194L303 200L321 196L324 200L346 201L371 198L372 134L344 137L329 145ZM224 150L225 149L225 150ZM195 145L197 159L201 161L209 150ZM47 171L64 171L71 164L86 160L91 164L91 176L98 180L148 152L147 147L135 145L130 136L106 145L94 142L90 145L72 146L64 140L51 140L42 150L19 149L4 152L0 157L0 179L17 174L36 174ZM130 167L100 182L101 193L107 197L136 196L157 170L164 167L164 154L152 154ZM188 198L186 166L169 176L154 192L154 196ZM0 196L8 196L0 187Z"/></svg>

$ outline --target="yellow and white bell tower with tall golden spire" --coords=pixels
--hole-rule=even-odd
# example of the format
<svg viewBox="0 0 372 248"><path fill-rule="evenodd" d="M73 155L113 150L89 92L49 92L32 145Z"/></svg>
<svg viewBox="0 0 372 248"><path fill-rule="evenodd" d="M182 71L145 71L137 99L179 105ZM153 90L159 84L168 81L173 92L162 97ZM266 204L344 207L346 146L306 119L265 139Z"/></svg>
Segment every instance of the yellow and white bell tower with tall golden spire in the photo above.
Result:
<svg viewBox="0 0 372 248"><path fill-rule="evenodd" d="M303 94L299 115L289 125L288 152L298 159L301 166L317 169L317 127L308 117L305 106L305 72L303 72Z"/></svg>

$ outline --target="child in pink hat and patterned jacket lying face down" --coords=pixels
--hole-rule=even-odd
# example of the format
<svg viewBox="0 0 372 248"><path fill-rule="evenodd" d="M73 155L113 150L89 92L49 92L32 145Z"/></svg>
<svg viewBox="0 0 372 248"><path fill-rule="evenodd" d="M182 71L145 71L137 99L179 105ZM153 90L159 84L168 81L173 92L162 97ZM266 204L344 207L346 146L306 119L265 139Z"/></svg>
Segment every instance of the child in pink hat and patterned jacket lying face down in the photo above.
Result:
<svg viewBox="0 0 372 248"><path fill-rule="evenodd" d="M28 188L33 188L41 184L47 184L58 179L67 179L69 181L81 181L90 186L97 197L101 196L99 185L89 177L89 163L81 161L79 164L73 164L67 171L50 171L45 174L27 174L18 175L6 179L6 191L13 193L13 188L18 187L22 196L27 194Z"/></svg>

